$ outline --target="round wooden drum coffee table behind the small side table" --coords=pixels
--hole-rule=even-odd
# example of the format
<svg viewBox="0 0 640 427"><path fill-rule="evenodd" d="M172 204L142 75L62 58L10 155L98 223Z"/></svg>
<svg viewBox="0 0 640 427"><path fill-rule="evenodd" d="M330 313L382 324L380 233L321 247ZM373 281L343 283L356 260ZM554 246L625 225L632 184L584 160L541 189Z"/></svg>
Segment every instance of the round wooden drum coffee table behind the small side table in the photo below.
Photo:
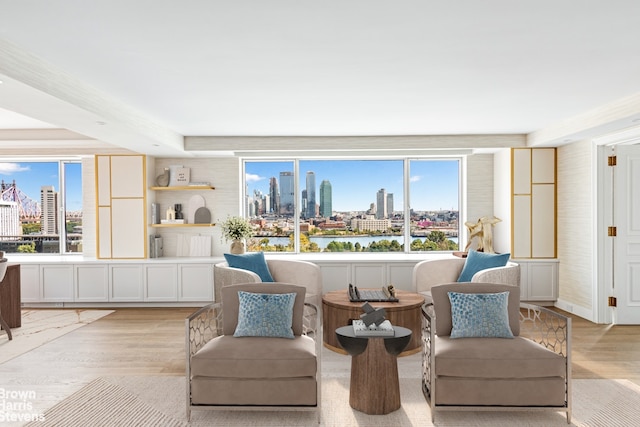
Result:
<svg viewBox="0 0 640 427"><path fill-rule="evenodd" d="M383 307L386 318L394 326L411 329L411 341L400 356L414 354L421 348L422 319L420 308L424 304L422 295L415 292L396 290L398 302L372 302L374 308ZM335 331L341 326L351 324L352 320L360 318L362 302L351 302L347 290L327 292L322 296L322 338L324 346L337 353L347 354L342 349Z"/></svg>

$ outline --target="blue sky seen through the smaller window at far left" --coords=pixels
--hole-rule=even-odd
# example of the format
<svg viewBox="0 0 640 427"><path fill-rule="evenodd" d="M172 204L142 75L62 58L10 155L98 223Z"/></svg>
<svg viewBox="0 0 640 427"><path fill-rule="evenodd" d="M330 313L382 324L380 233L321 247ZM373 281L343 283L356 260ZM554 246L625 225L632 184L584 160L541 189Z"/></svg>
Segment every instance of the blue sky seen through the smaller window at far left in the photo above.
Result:
<svg viewBox="0 0 640 427"><path fill-rule="evenodd" d="M58 162L0 162L0 179L16 186L29 198L40 203L40 187L52 185L60 191ZM82 167L80 163L66 165L67 210L82 210Z"/></svg>

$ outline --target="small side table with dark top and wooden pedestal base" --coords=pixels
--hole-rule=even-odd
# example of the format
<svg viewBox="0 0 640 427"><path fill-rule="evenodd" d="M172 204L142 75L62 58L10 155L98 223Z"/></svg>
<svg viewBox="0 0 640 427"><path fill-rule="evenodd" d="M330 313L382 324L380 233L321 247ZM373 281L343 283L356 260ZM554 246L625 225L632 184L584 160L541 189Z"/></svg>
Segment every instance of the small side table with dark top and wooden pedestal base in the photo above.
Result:
<svg viewBox="0 0 640 427"><path fill-rule="evenodd" d="M336 329L336 338L351 355L349 405L370 415L400 409L400 382L396 356L411 341L411 329L393 326L393 337L356 336L353 326Z"/></svg>

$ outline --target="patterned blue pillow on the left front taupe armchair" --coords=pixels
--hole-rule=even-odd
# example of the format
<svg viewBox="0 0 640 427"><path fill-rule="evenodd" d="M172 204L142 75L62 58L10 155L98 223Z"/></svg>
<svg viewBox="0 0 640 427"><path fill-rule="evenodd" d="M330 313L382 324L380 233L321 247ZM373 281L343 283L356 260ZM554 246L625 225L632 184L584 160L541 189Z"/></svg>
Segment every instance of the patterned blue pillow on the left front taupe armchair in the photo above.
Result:
<svg viewBox="0 0 640 427"><path fill-rule="evenodd" d="M293 339L293 304L296 294L258 294L238 291L238 325L234 337Z"/></svg>

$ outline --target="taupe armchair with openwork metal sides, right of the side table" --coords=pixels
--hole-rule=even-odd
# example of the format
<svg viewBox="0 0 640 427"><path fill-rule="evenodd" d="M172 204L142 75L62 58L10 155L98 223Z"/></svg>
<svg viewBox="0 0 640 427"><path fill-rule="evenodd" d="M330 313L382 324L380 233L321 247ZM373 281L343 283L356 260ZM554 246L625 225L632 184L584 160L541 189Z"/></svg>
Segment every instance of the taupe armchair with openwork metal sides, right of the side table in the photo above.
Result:
<svg viewBox="0 0 640 427"><path fill-rule="evenodd" d="M422 309L422 389L436 410L550 410L571 423L571 319L518 304L509 285L455 283L434 286L433 304ZM452 338L448 292L508 291L512 339ZM484 308L483 308L484 309Z"/></svg>

